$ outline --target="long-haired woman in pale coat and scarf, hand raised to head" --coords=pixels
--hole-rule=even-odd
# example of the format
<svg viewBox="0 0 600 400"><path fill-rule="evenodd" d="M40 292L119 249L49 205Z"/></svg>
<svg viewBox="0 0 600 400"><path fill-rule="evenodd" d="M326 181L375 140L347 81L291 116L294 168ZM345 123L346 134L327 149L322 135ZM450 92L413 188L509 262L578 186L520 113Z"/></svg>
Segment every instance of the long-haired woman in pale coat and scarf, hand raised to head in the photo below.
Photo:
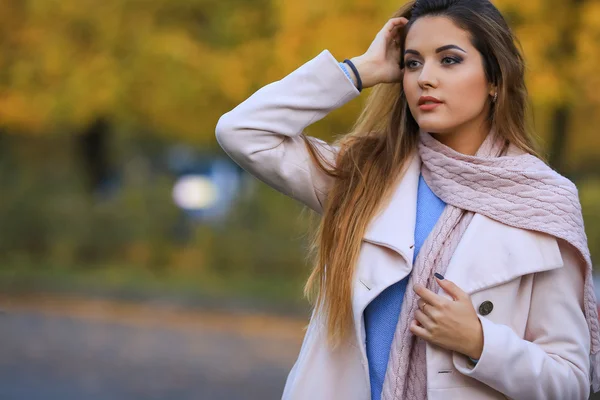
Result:
<svg viewBox="0 0 600 400"><path fill-rule="evenodd" d="M303 130L375 86L335 144ZM402 7L221 117L243 168L322 214L285 399L585 399L600 341L577 190L525 128L524 63L486 0ZM445 276L445 277L444 277Z"/></svg>

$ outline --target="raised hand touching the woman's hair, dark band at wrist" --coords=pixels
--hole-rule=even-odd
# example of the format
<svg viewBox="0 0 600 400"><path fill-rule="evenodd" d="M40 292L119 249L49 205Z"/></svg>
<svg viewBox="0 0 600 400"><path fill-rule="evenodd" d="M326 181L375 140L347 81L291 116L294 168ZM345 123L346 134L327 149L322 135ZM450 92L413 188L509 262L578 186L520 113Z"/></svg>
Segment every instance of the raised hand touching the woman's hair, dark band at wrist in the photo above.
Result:
<svg viewBox="0 0 600 400"><path fill-rule="evenodd" d="M369 49L351 61L358 69L363 88L378 83L400 82L400 30L408 23L404 17L390 19L377 33Z"/></svg>

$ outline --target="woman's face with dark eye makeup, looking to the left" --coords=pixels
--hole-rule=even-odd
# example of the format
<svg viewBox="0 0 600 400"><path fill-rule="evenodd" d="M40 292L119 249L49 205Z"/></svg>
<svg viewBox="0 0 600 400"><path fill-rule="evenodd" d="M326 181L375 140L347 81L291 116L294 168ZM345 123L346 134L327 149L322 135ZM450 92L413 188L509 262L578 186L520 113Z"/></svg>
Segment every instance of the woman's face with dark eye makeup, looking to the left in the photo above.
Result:
<svg viewBox="0 0 600 400"><path fill-rule="evenodd" d="M494 92L467 31L447 17L422 17L410 28L405 49L404 91L422 130L457 133L484 124ZM436 100L420 104L424 96Z"/></svg>

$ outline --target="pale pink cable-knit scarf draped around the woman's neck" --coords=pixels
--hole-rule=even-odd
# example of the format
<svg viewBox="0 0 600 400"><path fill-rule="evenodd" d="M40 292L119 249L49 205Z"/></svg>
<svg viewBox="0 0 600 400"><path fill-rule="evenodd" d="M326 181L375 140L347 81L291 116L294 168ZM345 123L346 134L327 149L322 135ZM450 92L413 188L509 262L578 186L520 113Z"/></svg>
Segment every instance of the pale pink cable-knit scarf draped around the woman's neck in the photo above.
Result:
<svg viewBox="0 0 600 400"><path fill-rule="evenodd" d="M592 261L577 188L537 157L524 154L490 131L475 156L464 155L420 132L421 173L447 205L423 243L408 287L433 292L433 274L446 273L452 254L475 213L503 224L563 239L585 268L584 313L591 334L591 384L600 389L600 329L592 281ZM409 329L418 296L407 290L394 333L383 384L383 400L427 399L426 343Z"/></svg>

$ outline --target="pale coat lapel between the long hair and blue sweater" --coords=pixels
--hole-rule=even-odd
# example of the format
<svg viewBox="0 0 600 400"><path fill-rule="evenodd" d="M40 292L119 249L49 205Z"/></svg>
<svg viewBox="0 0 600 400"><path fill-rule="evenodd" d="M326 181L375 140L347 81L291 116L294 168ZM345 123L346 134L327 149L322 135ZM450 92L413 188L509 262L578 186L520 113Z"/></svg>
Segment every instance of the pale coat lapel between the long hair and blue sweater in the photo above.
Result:
<svg viewBox="0 0 600 400"><path fill-rule="evenodd" d="M417 191L421 175L421 158L418 152L397 184L389 202L377 214L363 236L363 240L388 247L412 265L417 218Z"/></svg>

